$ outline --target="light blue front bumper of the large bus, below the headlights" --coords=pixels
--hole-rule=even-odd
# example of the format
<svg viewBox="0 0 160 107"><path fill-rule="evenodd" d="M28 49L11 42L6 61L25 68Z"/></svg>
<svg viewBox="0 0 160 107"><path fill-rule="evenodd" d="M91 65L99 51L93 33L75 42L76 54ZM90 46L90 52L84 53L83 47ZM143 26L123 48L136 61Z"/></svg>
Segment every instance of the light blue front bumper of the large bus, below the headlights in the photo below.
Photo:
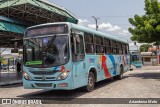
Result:
<svg viewBox="0 0 160 107"><path fill-rule="evenodd" d="M73 85L70 78L58 81L30 81L23 78L25 89L53 89L53 90L72 90Z"/></svg>

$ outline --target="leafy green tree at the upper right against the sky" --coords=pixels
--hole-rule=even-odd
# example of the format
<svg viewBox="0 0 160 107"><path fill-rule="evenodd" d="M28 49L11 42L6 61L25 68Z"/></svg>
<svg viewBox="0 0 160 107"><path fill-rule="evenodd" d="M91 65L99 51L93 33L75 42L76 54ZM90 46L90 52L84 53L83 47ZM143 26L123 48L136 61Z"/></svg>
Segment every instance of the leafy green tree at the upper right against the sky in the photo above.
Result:
<svg viewBox="0 0 160 107"><path fill-rule="evenodd" d="M157 0L145 0L145 15L129 18L133 28L131 40L139 43L160 42L160 3Z"/></svg>

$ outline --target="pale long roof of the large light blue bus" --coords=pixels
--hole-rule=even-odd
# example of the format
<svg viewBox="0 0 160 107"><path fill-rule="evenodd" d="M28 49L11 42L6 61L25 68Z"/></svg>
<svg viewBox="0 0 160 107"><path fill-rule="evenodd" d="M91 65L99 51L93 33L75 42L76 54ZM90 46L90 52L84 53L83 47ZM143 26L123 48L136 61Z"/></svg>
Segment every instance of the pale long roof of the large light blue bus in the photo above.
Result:
<svg viewBox="0 0 160 107"><path fill-rule="evenodd" d="M98 35L98 36L101 36L101 37L106 37L106 38L111 39L111 40L115 40L115 41L119 41L119 42L123 42L123 43L128 44L127 41L122 40L122 39L120 39L120 38L118 38L118 37L111 36L111 35L109 35L109 34L102 33L102 32L99 32L99 31L96 31L96 30L93 30L93 29L90 29L90 28L87 28L87 27L83 27L83 26L80 26L80 25L77 25L77 24L73 24L73 23L70 23L70 22L45 23L45 24L40 24L40 25L31 26L31 27L29 27L29 28L27 28L27 29L34 28L34 27L40 27L40 26L46 26L46 25L52 25L52 24L67 24L67 25L69 25L71 28L74 28L74 29L79 30L79 31L83 31L83 32L95 34L95 35Z"/></svg>

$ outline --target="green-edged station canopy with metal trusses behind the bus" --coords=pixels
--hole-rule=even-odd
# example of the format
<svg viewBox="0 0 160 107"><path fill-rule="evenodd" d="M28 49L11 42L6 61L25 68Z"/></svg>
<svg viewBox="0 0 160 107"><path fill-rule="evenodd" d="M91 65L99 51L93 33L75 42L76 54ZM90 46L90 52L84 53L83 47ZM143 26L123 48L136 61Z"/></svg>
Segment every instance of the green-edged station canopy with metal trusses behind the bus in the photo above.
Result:
<svg viewBox="0 0 160 107"><path fill-rule="evenodd" d="M13 48L23 44L27 27L53 22L78 23L78 19L65 9L47 0L0 1L0 48Z"/></svg>

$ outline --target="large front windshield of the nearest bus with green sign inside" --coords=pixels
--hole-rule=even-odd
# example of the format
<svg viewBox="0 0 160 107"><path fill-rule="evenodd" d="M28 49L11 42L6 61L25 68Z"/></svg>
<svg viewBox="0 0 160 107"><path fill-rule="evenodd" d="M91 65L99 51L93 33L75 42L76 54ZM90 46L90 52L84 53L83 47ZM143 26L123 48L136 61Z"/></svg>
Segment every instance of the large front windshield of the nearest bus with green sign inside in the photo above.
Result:
<svg viewBox="0 0 160 107"><path fill-rule="evenodd" d="M24 65L56 67L69 60L68 35L48 35L24 39Z"/></svg>

